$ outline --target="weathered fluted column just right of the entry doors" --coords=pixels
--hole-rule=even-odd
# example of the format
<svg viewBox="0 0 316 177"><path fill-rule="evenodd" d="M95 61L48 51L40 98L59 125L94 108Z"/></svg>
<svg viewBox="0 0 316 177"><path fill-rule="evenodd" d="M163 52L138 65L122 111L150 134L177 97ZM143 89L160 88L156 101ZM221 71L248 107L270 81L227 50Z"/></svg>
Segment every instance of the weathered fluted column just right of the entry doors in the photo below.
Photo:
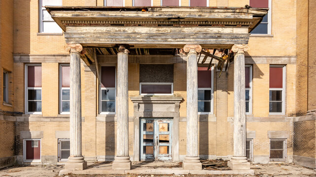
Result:
<svg viewBox="0 0 316 177"><path fill-rule="evenodd" d="M186 156L182 167L184 170L202 170L198 152L198 64L197 52L200 45L185 45L188 52L186 61Z"/></svg>

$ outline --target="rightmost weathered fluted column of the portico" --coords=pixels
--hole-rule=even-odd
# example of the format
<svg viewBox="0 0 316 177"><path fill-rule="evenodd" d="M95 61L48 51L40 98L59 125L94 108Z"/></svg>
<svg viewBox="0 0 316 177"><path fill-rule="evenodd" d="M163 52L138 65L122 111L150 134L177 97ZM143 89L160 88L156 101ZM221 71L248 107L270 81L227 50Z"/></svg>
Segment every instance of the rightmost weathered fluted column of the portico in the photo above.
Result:
<svg viewBox="0 0 316 177"><path fill-rule="evenodd" d="M234 45L234 155L228 162L232 170L250 170L246 160L245 52L247 45Z"/></svg>

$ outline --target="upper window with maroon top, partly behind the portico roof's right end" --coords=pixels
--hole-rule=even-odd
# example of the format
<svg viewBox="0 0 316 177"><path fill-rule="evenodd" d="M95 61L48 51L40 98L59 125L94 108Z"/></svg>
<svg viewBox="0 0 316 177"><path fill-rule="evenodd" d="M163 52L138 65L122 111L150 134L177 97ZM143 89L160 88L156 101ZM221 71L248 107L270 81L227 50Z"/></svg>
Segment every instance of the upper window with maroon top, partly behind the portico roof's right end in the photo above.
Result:
<svg viewBox="0 0 316 177"><path fill-rule="evenodd" d="M250 0L251 7L270 8L261 23L253 29L251 34L271 34L271 0Z"/></svg>

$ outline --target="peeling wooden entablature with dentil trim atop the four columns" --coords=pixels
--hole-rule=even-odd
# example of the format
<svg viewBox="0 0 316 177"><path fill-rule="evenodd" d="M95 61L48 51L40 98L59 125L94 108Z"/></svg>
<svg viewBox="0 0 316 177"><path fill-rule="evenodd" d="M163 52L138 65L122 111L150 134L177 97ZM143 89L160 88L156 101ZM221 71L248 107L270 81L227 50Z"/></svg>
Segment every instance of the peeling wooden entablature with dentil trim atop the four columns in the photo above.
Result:
<svg viewBox="0 0 316 177"><path fill-rule="evenodd" d="M249 31L267 14L262 8L46 7L67 43L137 48L231 48L247 44Z"/></svg>

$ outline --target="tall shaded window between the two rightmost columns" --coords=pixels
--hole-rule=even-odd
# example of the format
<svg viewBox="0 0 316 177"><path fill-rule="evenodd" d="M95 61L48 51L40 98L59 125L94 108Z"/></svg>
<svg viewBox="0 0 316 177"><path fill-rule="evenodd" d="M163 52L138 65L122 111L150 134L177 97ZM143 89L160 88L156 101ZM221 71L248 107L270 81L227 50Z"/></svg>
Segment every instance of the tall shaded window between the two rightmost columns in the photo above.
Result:
<svg viewBox="0 0 316 177"><path fill-rule="evenodd" d="M198 112L212 114L213 112L213 67L198 67Z"/></svg>

